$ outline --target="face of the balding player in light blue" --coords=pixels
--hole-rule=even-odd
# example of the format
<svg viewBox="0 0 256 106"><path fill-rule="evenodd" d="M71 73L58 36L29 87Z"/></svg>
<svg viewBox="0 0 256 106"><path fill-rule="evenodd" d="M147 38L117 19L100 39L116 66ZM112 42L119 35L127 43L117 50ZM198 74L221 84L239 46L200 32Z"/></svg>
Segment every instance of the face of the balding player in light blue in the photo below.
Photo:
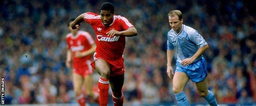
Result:
<svg viewBox="0 0 256 106"><path fill-rule="evenodd" d="M183 19L179 20L177 15L174 15L172 17L169 16L169 24L174 31L176 32L181 31L182 23L183 23Z"/></svg>

